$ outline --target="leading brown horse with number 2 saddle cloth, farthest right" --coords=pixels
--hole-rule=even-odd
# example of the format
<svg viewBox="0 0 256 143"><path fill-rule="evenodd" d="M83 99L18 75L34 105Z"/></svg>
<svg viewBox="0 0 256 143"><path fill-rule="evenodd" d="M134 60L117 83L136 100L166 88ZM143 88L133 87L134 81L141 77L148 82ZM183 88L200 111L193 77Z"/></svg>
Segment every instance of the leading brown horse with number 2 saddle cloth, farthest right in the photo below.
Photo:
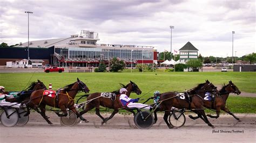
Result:
<svg viewBox="0 0 256 143"><path fill-rule="evenodd" d="M227 85L224 84L224 86L219 90L219 96L215 96L214 101L204 100L204 106L206 108L216 110L216 116L212 116L212 115L207 115L207 116L217 119L217 118L219 118L220 110L223 110L223 111L227 112L228 114L232 115L238 121L241 121L237 116L235 116L232 112L230 112L230 110L228 110L226 108L226 101L227 101L228 95L230 95L230 93L234 93L237 95L241 94L241 92L239 91L237 86L235 86L235 84L232 83L232 81L228 81L228 82L229 83ZM191 116L191 118L197 119L198 117Z"/></svg>

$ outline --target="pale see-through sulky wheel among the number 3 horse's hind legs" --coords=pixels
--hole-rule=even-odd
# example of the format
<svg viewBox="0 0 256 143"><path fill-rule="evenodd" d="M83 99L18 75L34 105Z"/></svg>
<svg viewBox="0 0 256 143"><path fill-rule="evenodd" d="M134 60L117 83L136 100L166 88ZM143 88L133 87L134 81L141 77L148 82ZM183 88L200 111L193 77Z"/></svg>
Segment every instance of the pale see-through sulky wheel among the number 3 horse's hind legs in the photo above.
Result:
<svg viewBox="0 0 256 143"><path fill-rule="evenodd" d="M183 112L173 111L169 116L169 123L174 127L181 127L185 124L186 118Z"/></svg>

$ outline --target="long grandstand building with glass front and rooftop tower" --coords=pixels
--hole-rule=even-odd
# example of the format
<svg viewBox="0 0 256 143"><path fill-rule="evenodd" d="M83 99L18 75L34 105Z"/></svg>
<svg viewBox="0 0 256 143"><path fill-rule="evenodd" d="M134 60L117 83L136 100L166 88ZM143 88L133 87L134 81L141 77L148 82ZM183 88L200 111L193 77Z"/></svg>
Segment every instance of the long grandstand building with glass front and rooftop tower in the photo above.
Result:
<svg viewBox="0 0 256 143"><path fill-rule="evenodd" d="M30 41L30 59L66 67L98 67L100 61L107 64L114 57L124 60L127 67L131 64L134 67L137 63L157 63L158 53L152 46L97 44L99 40L98 33L82 30L80 35L69 38ZM0 48L0 58L1 65L3 61L27 59L28 42Z"/></svg>

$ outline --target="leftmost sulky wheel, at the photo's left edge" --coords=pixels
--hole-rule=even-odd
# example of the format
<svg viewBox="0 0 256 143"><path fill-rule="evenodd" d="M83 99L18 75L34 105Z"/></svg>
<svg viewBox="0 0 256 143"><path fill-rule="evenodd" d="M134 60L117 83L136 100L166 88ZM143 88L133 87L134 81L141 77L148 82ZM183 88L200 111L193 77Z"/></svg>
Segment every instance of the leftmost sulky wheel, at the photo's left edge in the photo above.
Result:
<svg viewBox="0 0 256 143"><path fill-rule="evenodd" d="M1 122L6 127L15 126L18 122L18 113L14 109L7 109L1 115Z"/></svg>

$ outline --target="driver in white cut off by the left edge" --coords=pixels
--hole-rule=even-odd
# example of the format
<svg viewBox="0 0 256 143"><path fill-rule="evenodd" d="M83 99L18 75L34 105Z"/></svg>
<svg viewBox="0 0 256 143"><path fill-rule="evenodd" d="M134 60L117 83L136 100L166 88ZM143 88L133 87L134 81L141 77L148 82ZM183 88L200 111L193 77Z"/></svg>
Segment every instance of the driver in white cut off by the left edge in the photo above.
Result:
<svg viewBox="0 0 256 143"><path fill-rule="evenodd" d="M17 102L6 102L5 101L5 98L6 97L12 97L10 95L6 95L4 94L4 87L3 86L0 86L0 106L8 106L10 108L20 108L20 103L17 103Z"/></svg>

